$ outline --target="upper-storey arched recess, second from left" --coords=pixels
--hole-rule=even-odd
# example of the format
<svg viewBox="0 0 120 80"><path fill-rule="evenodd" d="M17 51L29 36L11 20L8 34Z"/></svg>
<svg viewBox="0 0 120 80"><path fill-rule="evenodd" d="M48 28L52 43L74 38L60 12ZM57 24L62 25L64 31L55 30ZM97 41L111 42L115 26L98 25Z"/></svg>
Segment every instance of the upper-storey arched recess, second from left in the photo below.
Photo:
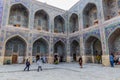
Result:
<svg viewBox="0 0 120 80"><path fill-rule="evenodd" d="M34 15L34 28L49 31L49 15L45 10L38 10Z"/></svg>

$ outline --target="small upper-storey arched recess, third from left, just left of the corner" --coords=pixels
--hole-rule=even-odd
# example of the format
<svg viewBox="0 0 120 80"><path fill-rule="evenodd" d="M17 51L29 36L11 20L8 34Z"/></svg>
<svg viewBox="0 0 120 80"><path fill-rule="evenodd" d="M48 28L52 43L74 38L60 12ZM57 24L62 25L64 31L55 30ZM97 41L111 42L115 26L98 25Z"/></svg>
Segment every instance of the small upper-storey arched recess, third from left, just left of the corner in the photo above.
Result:
<svg viewBox="0 0 120 80"><path fill-rule="evenodd" d="M54 18L54 32L55 33L64 33L65 32L65 20L60 15L58 15Z"/></svg>

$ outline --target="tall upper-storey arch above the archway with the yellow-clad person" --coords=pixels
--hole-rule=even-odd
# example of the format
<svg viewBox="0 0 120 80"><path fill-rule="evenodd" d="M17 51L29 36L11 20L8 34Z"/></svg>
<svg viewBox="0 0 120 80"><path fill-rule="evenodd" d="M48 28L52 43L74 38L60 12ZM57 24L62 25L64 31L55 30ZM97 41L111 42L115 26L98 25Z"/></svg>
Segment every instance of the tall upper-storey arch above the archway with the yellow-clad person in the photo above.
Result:
<svg viewBox="0 0 120 80"><path fill-rule="evenodd" d="M94 3L88 3L83 9L84 28L98 24L98 11Z"/></svg>

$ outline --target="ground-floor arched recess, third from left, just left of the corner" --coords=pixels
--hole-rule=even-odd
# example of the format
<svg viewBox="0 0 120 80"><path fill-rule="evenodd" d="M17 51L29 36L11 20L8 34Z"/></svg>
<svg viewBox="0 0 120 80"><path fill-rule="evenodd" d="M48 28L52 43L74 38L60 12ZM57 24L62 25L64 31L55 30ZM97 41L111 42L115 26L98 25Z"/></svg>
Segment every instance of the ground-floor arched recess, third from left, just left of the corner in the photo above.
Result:
<svg viewBox="0 0 120 80"><path fill-rule="evenodd" d="M54 53L58 54L60 62L65 62L66 61L66 54L65 54L66 50L65 50L65 45L62 41L58 41L54 45Z"/></svg>

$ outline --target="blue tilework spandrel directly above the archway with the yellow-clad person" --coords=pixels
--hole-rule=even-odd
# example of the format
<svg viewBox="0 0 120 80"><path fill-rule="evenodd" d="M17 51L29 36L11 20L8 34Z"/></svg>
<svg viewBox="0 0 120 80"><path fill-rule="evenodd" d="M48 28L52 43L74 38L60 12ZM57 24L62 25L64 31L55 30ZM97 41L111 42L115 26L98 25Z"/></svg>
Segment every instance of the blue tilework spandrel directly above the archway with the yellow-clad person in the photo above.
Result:
<svg viewBox="0 0 120 80"><path fill-rule="evenodd" d="M86 41L86 39L90 36L95 36L95 37L100 39L100 30L97 29L97 30L94 30L94 31L83 34L84 41Z"/></svg>

